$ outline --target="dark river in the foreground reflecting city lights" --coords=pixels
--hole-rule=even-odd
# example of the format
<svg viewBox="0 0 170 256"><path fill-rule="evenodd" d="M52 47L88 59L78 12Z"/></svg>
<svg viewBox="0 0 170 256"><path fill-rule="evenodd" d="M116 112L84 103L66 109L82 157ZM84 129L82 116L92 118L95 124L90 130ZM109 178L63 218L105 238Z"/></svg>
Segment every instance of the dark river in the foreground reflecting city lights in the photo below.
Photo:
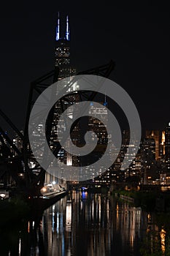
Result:
<svg viewBox="0 0 170 256"><path fill-rule="evenodd" d="M139 256L155 244L164 252L166 230L153 219L113 197L71 192L39 220L1 230L0 255Z"/></svg>

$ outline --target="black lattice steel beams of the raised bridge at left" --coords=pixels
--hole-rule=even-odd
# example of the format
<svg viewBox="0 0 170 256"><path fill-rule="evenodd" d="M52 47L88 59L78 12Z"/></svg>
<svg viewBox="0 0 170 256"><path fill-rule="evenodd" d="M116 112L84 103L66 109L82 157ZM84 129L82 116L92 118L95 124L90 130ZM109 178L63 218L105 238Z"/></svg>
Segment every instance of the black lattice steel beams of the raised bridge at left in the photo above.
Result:
<svg viewBox="0 0 170 256"><path fill-rule="evenodd" d="M108 64L104 64L92 69L79 72L77 75L99 75L101 77L108 78L114 68L115 68L115 62L109 61ZM34 159L34 156L31 153L31 149L29 147L29 140L28 140L29 116L31 113L31 109L34 105L34 102L36 101L36 98L39 97L39 95L42 94L42 91L47 89L48 86L50 86L52 83L55 83L58 80L58 74L59 74L59 69L58 67L55 67L55 69L53 69L51 72L48 72L47 74L34 80L31 83L30 93L28 97L28 108L26 113L24 135L20 133L20 131L18 130L17 127L15 127L12 121L10 121L9 118L7 118L7 116L0 110L0 116L2 116L5 119L5 121L7 121L9 126L12 127L12 129L17 133L17 135L23 141L23 151L20 152L18 148L12 144L12 141L9 140L8 136L6 136L6 140L8 141L9 145L12 146L12 148L14 148L15 152L17 152L17 157L21 154L20 159L23 160L24 168L25 168L26 187L29 191L33 191L34 189L41 188L45 180L45 170L43 170L42 167L39 166L39 163L36 162L36 159ZM68 87L72 86L72 83L74 83L74 81L71 81ZM90 92L87 92L87 91L78 91L80 100L82 100L82 98L87 100L93 100L96 94L97 94L96 91L93 91L91 94ZM67 97L63 97L63 99L60 100L61 112L64 110L63 108L64 102L68 102L68 105L72 104L69 97L73 95L74 93L67 95ZM50 134L51 134L52 123L53 123L53 113L54 113L53 110L51 110L50 115L48 116L48 119L47 119L47 133L46 133L47 141L50 140ZM76 125L76 122L75 122L75 125ZM74 127L72 127L72 130L73 129ZM1 131L3 132L3 129L1 129L0 132ZM53 153L56 155L58 151L60 151L60 149L61 149L61 145L60 143L58 143ZM30 162L30 160L34 161L36 164L34 168L29 167L28 163Z"/></svg>

